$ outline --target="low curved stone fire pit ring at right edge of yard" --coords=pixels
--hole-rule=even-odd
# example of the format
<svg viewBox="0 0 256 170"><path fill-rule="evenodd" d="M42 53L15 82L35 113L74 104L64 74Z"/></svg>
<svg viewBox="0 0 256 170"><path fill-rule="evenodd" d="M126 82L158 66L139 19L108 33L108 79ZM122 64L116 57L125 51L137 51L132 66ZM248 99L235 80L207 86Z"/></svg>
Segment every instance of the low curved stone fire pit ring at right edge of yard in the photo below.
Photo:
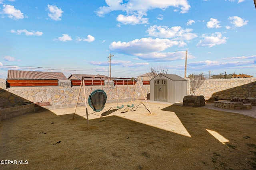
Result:
<svg viewBox="0 0 256 170"><path fill-rule="evenodd" d="M215 107L220 107L223 109L252 109L252 104L244 104L242 102L224 102L224 101L214 101Z"/></svg>

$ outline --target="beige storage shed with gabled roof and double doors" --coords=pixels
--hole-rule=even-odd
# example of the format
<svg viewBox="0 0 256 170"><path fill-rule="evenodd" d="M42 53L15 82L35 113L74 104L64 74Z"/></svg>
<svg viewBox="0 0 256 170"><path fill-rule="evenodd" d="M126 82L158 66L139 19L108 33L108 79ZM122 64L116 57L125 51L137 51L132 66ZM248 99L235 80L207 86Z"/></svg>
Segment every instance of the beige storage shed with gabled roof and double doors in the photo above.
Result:
<svg viewBox="0 0 256 170"><path fill-rule="evenodd" d="M187 80L176 74L158 74L150 80L150 100L182 102L187 95Z"/></svg>

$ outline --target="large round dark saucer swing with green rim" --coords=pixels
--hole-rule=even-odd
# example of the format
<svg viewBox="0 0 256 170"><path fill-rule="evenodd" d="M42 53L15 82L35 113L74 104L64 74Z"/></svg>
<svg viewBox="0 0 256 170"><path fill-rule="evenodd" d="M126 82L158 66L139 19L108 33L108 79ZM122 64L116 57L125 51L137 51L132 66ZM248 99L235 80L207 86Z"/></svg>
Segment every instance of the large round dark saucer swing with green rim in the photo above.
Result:
<svg viewBox="0 0 256 170"><path fill-rule="evenodd" d="M107 101L107 95L104 90L94 90L89 98L88 104L93 109L93 111L102 111L104 109Z"/></svg>

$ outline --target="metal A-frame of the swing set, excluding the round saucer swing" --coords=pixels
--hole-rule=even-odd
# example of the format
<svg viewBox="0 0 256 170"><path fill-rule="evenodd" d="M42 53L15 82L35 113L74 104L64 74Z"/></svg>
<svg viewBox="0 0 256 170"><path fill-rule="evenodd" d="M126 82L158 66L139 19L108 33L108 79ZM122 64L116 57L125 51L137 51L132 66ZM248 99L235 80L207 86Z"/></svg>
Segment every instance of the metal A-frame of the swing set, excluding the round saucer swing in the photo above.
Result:
<svg viewBox="0 0 256 170"><path fill-rule="evenodd" d="M87 128L90 129L89 118L88 118L87 97L86 97L85 82L84 82L85 78L92 78L92 84L91 84L91 91L92 91L92 86L93 86L93 80L94 80L94 78L100 78L100 82L101 82L101 86L102 86L102 77L98 77L98 76L82 76L80 88L79 88L79 91L78 91L78 97L77 97L76 106L75 106L75 110L74 110L74 114L73 114L73 119L74 119L75 114L76 114L76 108L77 108L77 105L78 105L78 100L79 100L80 92L81 92L82 85L83 85L83 89L84 89L84 103L85 103L85 109L86 109ZM135 87L133 88L133 95L132 95L132 100L133 100L138 78L109 77L108 80L109 80L109 79L110 79L110 80L111 80L111 79L116 79L116 93L117 93L117 79L123 80L123 86L124 86L124 80L127 80L127 81L128 81L128 80L136 80L136 81L135 81ZM139 86L140 86L140 83L138 83L138 84L139 84ZM128 86L128 83L127 83L127 86ZM102 87L102 90L103 90L103 87ZM140 90L141 90L141 92L142 92L142 94L143 94L144 100L146 101L146 104L147 104L148 108L147 108L145 105L144 105L144 106L145 106L146 109L149 111L149 113L152 115L152 112L151 112L151 110L150 110L150 107L149 107L149 105L148 105L148 102L147 102L147 100L146 100L146 97L145 97L145 95L144 95L144 93L143 93L143 90L142 90L141 86L140 86ZM118 97L116 97L116 98L118 99ZM124 98L124 94L123 94L123 98ZM124 99L123 99L123 100L124 100ZM127 105L128 107L134 107L134 104L132 104L132 100L131 100L131 104L130 104L130 105L129 105L129 104ZM118 104L118 103L117 103L117 104ZM122 107L122 106L121 106L121 107ZM117 108L118 108L118 106L117 106ZM123 108L123 107L122 107L122 108Z"/></svg>

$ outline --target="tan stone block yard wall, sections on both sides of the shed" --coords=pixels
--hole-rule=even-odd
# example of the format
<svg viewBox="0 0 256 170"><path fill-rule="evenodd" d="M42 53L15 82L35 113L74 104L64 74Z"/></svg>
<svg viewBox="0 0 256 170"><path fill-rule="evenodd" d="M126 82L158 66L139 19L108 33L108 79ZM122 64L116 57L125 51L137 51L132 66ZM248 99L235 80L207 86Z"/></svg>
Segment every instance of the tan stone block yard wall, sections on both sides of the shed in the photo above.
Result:
<svg viewBox="0 0 256 170"><path fill-rule="evenodd" d="M134 92L135 99L144 99L143 95L147 97L150 85L143 85L139 81L140 87L136 86ZM50 102L50 105L60 104L75 104L78 98L78 91L80 86L71 86L70 80L59 80L59 86L41 86L41 87L11 87L6 89L6 81L0 79L0 108L20 106L23 102ZM92 86L92 91L102 89L101 86ZM116 102L122 104L130 102L133 96L133 85L114 86L113 81L105 81L103 90L107 94L107 102ZM91 86L86 86L86 97L90 94ZM79 103L84 102L83 88L80 92ZM212 96L219 96L220 98L256 98L256 78L232 78L232 79L214 79L205 80L204 84L196 90L195 96L204 96L208 100ZM126 104L126 103L125 103Z"/></svg>

